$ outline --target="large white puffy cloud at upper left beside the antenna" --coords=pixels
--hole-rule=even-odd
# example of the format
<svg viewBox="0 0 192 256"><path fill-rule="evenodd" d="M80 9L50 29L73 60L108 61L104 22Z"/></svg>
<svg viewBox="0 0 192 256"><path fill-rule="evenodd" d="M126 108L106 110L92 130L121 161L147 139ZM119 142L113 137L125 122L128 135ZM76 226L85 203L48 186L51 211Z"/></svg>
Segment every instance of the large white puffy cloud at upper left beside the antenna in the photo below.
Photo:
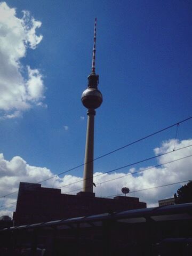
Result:
<svg viewBox="0 0 192 256"><path fill-rule="evenodd" d="M35 49L43 36L36 35L41 22L23 11L17 18L14 8L0 3L0 114L1 119L20 117L44 98L42 74L22 66L28 48Z"/></svg>

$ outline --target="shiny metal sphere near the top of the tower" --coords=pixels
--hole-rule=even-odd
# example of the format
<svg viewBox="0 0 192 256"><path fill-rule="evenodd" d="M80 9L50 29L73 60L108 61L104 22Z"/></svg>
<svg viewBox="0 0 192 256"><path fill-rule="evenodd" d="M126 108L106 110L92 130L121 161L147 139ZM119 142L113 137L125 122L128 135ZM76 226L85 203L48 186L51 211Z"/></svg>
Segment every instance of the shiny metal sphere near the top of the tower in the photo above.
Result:
<svg viewBox="0 0 192 256"><path fill-rule="evenodd" d="M102 94L98 89L88 87L82 93L81 100L83 105L88 109L99 108L102 103Z"/></svg>

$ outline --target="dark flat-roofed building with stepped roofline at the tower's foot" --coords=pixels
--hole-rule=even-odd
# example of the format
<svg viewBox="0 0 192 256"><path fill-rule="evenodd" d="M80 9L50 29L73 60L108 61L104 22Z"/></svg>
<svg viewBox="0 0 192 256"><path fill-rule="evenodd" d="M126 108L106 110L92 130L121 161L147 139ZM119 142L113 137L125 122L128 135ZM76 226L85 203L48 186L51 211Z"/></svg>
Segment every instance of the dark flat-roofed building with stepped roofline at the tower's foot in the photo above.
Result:
<svg viewBox="0 0 192 256"><path fill-rule="evenodd" d="M137 197L95 197L94 193L61 194L61 189L20 182L14 226L67 219L99 213L146 208Z"/></svg>

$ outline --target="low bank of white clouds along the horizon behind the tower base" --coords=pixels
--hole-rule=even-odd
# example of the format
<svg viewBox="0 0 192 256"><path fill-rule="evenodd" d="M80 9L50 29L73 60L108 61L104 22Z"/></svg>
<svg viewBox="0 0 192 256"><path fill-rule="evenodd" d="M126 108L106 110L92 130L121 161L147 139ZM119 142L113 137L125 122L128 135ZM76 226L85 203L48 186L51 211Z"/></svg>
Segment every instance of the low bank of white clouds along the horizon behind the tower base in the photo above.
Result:
<svg viewBox="0 0 192 256"><path fill-rule="evenodd" d="M177 140L175 143L175 149L186 147L188 145L192 145L192 139L182 141ZM154 154L164 154L173 150L173 147L174 140L164 141L160 147L154 149ZM189 155L192 155L192 147L176 150L170 154L158 157L157 164L163 165L146 171L145 169L153 166L145 166L139 169L137 169L137 167L132 167L125 172L118 173L102 174L102 172L96 171L94 173L94 183L96 184L94 192L98 197L106 197L121 194L122 187L129 187L129 196L139 197L140 202L147 202L148 207L157 206L158 200L173 197L173 194L183 185L183 183L163 188L143 190L135 193L133 193L133 191L190 180L192 178L192 157L181 159L170 164L164 164ZM139 171L139 173L135 175L135 171ZM14 156L9 161L4 158L3 154L0 154L0 196L10 194L13 191L18 190L20 181L37 183L41 180L51 178L53 175L54 174L51 170L46 167L29 165L20 156ZM78 182L74 183L76 181ZM70 183L74 184L66 186ZM76 194L82 189L82 177L77 177L70 173L63 177L55 175L54 179L42 182L42 187L61 188L61 193ZM17 194L0 199L0 205L2 206L2 210L0 208L0 216L12 215L12 211L14 209L4 209L4 207L6 207L7 204L14 202L16 199ZM7 205L7 207L9 206L10 205Z"/></svg>

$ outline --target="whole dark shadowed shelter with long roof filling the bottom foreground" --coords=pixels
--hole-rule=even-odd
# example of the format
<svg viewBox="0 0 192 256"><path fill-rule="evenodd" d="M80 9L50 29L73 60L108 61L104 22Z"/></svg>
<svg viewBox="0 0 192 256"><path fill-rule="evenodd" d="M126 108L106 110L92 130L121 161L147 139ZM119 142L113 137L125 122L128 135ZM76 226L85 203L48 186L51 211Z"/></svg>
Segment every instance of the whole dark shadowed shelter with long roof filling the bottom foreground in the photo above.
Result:
<svg viewBox="0 0 192 256"><path fill-rule="evenodd" d="M192 255L192 203L5 228L0 243L2 256Z"/></svg>

